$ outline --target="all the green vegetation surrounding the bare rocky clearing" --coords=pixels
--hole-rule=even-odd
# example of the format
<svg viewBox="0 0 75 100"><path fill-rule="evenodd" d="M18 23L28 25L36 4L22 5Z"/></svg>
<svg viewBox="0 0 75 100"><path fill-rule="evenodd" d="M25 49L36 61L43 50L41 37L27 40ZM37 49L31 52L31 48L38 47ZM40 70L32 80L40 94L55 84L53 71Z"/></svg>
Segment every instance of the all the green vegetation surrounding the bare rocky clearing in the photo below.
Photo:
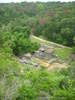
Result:
<svg viewBox="0 0 75 100"><path fill-rule="evenodd" d="M64 46L53 53L67 68L21 64L41 46L32 36ZM0 3L0 100L45 99L75 99L75 2Z"/></svg>

